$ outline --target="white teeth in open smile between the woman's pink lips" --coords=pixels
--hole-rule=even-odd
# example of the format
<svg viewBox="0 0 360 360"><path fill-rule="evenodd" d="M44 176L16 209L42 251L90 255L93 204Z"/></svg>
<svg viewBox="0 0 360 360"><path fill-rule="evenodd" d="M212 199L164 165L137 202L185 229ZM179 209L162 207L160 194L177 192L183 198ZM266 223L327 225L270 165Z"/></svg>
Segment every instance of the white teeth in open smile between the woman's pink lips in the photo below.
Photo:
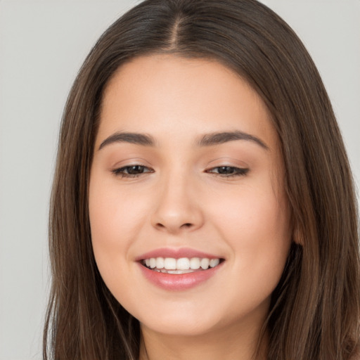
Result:
<svg viewBox="0 0 360 360"><path fill-rule="evenodd" d="M196 271L205 271L212 269L224 259L215 258L209 259L207 257L150 257L141 260L141 264L146 268L164 274L188 274Z"/></svg>

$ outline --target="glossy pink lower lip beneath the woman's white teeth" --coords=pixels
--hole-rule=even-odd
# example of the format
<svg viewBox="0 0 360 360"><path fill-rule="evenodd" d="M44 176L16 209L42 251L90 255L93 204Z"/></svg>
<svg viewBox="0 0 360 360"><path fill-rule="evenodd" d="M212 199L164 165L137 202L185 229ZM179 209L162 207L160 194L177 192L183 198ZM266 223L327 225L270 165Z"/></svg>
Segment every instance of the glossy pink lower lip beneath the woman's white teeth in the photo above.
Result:
<svg viewBox="0 0 360 360"><path fill-rule="evenodd" d="M165 290L186 290L194 288L214 276L222 264L224 264L224 262L207 270L194 271L187 274L166 274L150 270L139 262L140 269L148 281Z"/></svg>

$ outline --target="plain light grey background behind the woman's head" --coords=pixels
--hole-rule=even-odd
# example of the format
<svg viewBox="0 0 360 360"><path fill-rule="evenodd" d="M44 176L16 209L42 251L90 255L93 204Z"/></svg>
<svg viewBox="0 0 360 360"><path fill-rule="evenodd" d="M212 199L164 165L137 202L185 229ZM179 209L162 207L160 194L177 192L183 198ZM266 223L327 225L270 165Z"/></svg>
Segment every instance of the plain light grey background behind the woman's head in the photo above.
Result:
<svg viewBox="0 0 360 360"><path fill-rule="evenodd" d="M359 184L360 0L263 2L293 26L318 65ZM134 4L0 0L0 360L41 359L63 105L91 46Z"/></svg>

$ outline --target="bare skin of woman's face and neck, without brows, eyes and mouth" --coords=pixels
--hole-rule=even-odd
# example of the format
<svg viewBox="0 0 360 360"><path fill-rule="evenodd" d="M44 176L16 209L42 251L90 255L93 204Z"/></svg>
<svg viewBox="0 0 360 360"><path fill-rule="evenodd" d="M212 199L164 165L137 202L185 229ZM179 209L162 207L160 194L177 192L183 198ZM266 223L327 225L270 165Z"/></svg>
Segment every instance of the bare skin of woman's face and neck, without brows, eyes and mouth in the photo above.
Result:
<svg viewBox="0 0 360 360"><path fill-rule="evenodd" d="M148 134L155 146L103 143L121 131ZM199 146L224 131L264 146ZM143 166L138 176L122 176L130 165ZM219 174L221 166L231 168ZM234 175L238 168L248 170ZM103 94L89 216L101 276L141 323L140 359L252 358L290 248L283 178L266 106L224 65L152 55L117 70ZM175 291L150 283L135 261L184 247L225 261L204 283Z"/></svg>

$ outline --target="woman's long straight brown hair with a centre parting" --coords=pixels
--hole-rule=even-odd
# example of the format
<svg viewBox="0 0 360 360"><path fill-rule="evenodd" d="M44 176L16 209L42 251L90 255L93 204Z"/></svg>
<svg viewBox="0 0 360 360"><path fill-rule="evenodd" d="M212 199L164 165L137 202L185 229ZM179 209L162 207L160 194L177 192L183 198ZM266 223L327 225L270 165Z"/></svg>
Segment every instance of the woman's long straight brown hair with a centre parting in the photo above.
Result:
<svg viewBox="0 0 360 360"><path fill-rule="evenodd" d="M138 359L139 321L103 283L88 184L103 90L136 56L212 58L262 97L281 141L293 245L264 329L269 360L347 360L359 342L359 233L332 106L293 30L255 0L146 0L98 40L63 115L50 214L44 359Z"/></svg>

